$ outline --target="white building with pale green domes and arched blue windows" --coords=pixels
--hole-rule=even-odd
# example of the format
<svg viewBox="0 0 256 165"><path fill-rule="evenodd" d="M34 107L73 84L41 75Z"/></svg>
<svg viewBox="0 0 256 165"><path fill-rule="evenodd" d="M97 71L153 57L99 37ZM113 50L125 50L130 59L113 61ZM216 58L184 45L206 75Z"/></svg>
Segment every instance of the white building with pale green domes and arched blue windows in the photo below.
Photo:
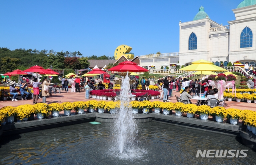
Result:
<svg viewBox="0 0 256 165"><path fill-rule="evenodd" d="M256 0L244 0L232 11L236 20L228 21L228 26L222 26L211 20L201 6L192 21L179 24L180 49L176 56L163 58L162 54L143 55L140 57L140 65L159 66L166 62L172 64L174 61L188 65L192 61L204 59L214 62L217 66L221 61L224 66L229 61L240 61L255 67ZM172 58L175 60L171 61Z"/></svg>

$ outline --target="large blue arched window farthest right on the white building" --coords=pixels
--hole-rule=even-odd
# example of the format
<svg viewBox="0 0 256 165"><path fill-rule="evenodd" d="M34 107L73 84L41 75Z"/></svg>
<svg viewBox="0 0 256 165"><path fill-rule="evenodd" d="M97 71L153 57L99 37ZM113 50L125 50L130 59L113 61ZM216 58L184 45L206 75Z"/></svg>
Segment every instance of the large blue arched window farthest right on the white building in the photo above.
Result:
<svg viewBox="0 0 256 165"><path fill-rule="evenodd" d="M240 35L240 48L252 47L252 30L245 27Z"/></svg>

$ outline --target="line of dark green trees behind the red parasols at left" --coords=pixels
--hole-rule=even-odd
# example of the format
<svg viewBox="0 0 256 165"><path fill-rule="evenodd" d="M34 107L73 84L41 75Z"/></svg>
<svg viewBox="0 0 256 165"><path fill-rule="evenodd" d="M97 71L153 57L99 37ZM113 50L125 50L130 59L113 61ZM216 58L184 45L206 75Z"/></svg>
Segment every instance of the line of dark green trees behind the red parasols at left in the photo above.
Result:
<svg viewBox="0 0 256 165"><path fill-rule="evenodd" d="M34 65L53 69L86 69L90 63L88 59L113 59L105 55L97 57L92 55L83 57L80 51L70 52L37 49L15 49L6 47L0 48L0 73L14 71L15 69L25 70Z"/></svg>

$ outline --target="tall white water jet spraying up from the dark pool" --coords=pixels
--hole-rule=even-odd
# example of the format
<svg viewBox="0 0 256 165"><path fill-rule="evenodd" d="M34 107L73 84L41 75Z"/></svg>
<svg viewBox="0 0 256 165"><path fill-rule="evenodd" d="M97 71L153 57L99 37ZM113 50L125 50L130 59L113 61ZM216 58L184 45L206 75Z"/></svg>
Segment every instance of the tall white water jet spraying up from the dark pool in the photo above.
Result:
<svg viewBox="0 0 256 165"><path fill-rule="evenodd" d="M127 72L126 77L122 77L122 85L120 92L120 112L117 114L117 119L114 123L113 131L113 146L112 151L120 158L128 158L136 156L137 152L145 153L146 151L138 148L139 141L138 128L135 121L132 119L132 107L129 105L131 98L130 78Z"/></svg>

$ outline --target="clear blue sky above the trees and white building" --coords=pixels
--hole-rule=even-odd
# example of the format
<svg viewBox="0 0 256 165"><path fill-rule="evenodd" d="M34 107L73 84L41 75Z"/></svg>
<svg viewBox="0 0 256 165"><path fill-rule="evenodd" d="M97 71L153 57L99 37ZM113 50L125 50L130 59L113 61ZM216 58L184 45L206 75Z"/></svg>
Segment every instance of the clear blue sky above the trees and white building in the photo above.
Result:
<svg viewBox="0 0 256 165"><path fill-rule="evenodd" d="M0 47L80 51L113 56L179 51L179 21L192 21L202 5L211 20L228 25L242 0L1 0Z"/></svg>

